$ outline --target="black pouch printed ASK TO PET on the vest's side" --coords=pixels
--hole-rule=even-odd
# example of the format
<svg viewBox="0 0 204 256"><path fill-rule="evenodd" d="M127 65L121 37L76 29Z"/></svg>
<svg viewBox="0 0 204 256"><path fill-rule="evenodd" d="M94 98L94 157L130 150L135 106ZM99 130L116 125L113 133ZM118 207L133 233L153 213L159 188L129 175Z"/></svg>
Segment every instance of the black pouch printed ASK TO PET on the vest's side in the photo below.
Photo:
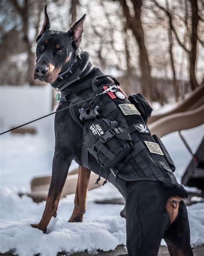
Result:
<svg viewBox="0 0 204 256"><path fill-rule="evenodd" d="M103 168L116 166L132 148L130 134L105 118L87 122L83 144Z"/></svg>

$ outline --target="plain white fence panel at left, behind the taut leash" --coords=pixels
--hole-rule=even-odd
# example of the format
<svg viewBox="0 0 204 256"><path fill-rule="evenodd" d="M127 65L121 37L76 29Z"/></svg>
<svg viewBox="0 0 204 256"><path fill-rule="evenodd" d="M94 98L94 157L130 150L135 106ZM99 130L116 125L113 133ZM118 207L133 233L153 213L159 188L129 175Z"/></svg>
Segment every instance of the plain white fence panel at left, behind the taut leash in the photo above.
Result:
<svg viewBox="0 0 204 256"><path fill-rule="evenodd" d="M52 92L47 86L0 86L0 132L22 125L52 111ZM48 128L53 117L27 127Z"/></svg>

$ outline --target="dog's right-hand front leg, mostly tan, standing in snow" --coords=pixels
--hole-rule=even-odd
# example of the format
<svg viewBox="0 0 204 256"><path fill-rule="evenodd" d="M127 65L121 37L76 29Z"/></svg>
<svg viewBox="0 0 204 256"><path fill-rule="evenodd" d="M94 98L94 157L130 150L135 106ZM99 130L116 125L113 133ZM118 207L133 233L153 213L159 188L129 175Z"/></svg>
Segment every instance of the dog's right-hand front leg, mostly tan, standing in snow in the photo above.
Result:
<svg viewBox="0 0 204 256"><path fill-rule="evenodd" d="M83 214L86 211L86 198L89 187L91 171L85 167L79 166L77 189L74 198L74 210L69 222L83 221Z"/></svg>

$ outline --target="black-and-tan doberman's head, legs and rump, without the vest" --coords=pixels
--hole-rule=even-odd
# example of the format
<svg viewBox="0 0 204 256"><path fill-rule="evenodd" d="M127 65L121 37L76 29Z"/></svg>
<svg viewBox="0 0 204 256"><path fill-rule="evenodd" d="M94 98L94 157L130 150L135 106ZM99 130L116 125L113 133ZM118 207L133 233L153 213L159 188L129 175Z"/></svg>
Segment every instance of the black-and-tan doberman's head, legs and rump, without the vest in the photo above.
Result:
<svg viewBox="0 0 204 256"><path fill-rule="evenodd" d="M43 28L37 37L34 79L43 80L56 87L55 81L59 73L68 70L79 48L84 19L85 15L68 32L50 30L45 8ZM86 68L88 60L88 53L83 52L81 59L74 66L71 75L73 79L79 77ZM98 68L93 68L86 76L74 82L69 90L73 90L76 94L87 90L93 78L99 75L102 75L102 72ZM59 102L58 110L67 106L69 102ZM100 169L94 157L89 160L90 170L82 166L82 129L73 120L69 110L56 113L55 138L52 179L45 210L40 222L32 224L32 227L44 232L50 219L56 217L71 161L75 160L80 167L74 211L70 222L83 221L90 170L99 174ZM101 175L105 178L106 174L102 172ZM171 256L193 255L185 203L173 186L147 180L127 182L118 177L117 189L126 202L121 216L126 218L127 250L130 256L156 256L162 238L167 243Z"/></svg>

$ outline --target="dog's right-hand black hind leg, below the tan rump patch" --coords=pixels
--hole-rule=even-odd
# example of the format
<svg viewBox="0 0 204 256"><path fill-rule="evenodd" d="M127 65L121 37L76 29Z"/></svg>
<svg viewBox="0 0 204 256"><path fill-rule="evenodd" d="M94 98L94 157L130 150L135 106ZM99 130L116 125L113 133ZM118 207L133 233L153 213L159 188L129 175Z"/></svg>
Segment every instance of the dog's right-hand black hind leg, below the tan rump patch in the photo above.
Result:
<svg viewBox="0 0 204 256"><path fill-rule="evenodd" d="M164 240L170 256L193 256L188 213L183 201L179 202L177 217L165 232Z"/></svg>

